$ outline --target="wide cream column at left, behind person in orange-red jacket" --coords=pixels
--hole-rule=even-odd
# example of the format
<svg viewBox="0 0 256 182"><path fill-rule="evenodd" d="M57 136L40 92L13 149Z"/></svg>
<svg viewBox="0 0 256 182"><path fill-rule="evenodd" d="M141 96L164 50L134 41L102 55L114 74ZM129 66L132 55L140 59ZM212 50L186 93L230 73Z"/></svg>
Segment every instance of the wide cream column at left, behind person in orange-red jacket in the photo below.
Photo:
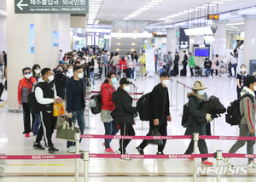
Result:
<svg viewBox="0 0 256 182"><path fill-rule="evenodd" d="M7 54L8 54L8 107L18 105L17 89L22 76L22 68L32 67L34 54L30 53L30 24L33 14L15 14L15 1L7 3Z"/></svg>

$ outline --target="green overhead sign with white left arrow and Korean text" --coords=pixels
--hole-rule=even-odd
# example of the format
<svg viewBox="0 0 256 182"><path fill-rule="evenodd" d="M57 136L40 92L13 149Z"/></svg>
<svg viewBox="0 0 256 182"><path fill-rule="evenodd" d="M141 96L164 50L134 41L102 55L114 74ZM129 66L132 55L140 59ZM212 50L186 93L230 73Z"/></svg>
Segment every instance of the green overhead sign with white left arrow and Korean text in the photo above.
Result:
<svg viewBox="0 0 256 182"><path fill-rule="evenodd" d="M15 0L15 14L88 14L88 1Z"/></svg>

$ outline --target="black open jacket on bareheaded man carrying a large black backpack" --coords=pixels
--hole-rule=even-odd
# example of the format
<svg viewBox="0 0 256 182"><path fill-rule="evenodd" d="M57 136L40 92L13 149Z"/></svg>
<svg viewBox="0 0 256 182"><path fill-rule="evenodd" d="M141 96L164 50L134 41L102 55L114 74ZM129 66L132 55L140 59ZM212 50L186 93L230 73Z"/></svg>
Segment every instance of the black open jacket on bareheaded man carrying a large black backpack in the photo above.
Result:
<svg viewBox="0 0 256 182"><path fill-rule="evenodd" d="M165 91L166 91L166 97L165 97ZM151 99L152 99L152 117L154 119L159 119L159 122L162 121L162 117L165 118L165 121L167 121L167 117L170 115L169 107L169 94L168 89L164 88L161 83L154 86L152 92L151 92ZM166 100L166 108L164 108ZM151 121L153 122L153 121Z"/></svg>

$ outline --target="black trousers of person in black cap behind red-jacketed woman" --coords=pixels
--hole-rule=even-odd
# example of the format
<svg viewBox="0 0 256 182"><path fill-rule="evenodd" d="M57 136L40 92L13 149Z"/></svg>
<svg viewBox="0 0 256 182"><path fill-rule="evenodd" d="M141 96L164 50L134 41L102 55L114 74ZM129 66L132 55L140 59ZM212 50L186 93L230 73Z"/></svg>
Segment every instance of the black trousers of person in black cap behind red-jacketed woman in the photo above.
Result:
<svg viewBox="0 0 256 182"><path fill-rule="evenodd" d="M132 127L132 124L120 124L120 134L134 136L135 132L134 132L134 128ZM119 151L121 151L122 154L125 154L126 146L130 142L131 142L131 139L120 139L119 140Z"/></svg>

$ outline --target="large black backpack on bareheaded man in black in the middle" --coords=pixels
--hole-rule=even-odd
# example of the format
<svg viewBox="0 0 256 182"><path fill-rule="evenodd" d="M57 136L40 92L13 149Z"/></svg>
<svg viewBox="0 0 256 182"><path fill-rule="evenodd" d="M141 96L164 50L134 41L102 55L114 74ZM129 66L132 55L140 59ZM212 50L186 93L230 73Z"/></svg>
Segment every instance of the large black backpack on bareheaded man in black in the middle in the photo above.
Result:
<svg viewBox="0 0 256 182"><path fill-rule="evenodd" d="M137 111L139 113L141 121L149 121L150 108L152 105L151 92L144 94L139 100L137 100Z"/></svg>

